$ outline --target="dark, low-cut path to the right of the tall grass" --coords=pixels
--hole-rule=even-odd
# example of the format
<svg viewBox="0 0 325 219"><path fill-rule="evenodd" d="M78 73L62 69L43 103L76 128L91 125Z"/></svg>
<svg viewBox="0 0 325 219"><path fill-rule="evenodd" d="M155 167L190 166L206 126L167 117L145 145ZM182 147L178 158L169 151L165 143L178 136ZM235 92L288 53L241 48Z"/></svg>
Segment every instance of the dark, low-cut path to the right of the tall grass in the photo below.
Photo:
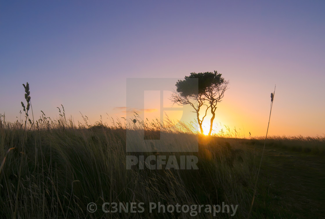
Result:
<svg viewBox="0 0 325 219"><path fill-rule="evenodd" d="M279 206L292 218L325 218L323 156L265 148L262 169L272 206Z"/></svg>

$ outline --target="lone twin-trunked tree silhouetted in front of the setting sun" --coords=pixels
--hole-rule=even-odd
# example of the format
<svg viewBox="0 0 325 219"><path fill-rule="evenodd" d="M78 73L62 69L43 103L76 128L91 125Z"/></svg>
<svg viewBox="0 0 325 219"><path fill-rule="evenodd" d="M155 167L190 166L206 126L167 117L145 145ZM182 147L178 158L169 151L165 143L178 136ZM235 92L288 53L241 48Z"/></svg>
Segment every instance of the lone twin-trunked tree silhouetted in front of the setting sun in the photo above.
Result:
<svg viewBox="0 0 325 219"><path fill-rule="evenodd" d="M192 78L198 78L198 89L194 89L196 86ZM226 81L221 77L221 74L217 71L204 72L204 73L190 73L189 76L185 76L184 80L178 80L176 85L176 91L171 95L170 100L180 106L189 104L196 113L197 121L200 126L201 134L203 134L202 123L207 115L207 111L210 109L212 117L210 119L209 136L212 132L212 125L215 118L215 110L217 109L217 103L221 102L224 97L225 91L228 89L229 81ZM200 119L200 109L206 106L204 116Z"/></svg>

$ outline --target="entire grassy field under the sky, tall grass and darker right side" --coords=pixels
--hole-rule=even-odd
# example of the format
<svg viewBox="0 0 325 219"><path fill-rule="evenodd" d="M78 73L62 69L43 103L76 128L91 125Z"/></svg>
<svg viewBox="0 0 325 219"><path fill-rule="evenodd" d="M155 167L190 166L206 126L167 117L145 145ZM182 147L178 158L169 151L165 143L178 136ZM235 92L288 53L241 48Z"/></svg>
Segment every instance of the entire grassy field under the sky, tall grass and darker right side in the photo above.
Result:
<svg viewBox="0 0 325 219"><path fill-rule="evenodd" d="M126 152L126 129L136 127L121 122L90 125L86 117L76 127L60 116L51 120L43 115L26 130L24 122L1 121L1 218L213 218L204 208L196 216L149 213L150 202L166 206L224 202L238 205L234 218L248 217L263 138L199 136L198 152L131 153ZM157 126L144 127L148 141L159 133ZM175 147L186 147L198 136L188 130L161 131ZM267 139L251 218L324 216L324 143L324 137ZM195 155L199 169L126 170L126 155ZM94 213L87 211L90 202L98 206ZM104 213L104 202L143 202L144 212ZM230 218L231 213L215 217Z"/></svg>

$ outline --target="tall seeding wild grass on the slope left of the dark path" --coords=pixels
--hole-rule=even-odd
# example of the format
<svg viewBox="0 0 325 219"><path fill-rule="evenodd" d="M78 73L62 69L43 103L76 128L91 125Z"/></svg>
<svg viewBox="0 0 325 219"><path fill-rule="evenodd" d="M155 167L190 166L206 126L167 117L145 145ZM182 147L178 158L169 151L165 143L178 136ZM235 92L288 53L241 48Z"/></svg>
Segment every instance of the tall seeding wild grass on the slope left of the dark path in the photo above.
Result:
<svg viewBox="0 0 325 219"><path fill-rule="evenodd" d="M84 123L74 124L72 118L66 118L63 106L59 118L51 119L42 111L37 121L29 123L28 115L25 121L13 123L0 115L0 218L193 218L189 213L149 213L149 202L166 206L238 204L235 217L247 218L260 158L248 145L259 144L261 139L240 139L237 134L231 138L233 133L227 132L223 137L202 136L193 132L193 123L175 125L167 119L161 125L137 114L129 120L111 118L111 125L101 119L91 124L83 118ZM152 152L127 152L127 137L136 142L139 132L145 132L150 146L157 136L166 135L168 142L164 144L186 148L198 141L199 148L160 152L159 145L153 144L156 150ZM273 137L267 143L300 140ZM320 147L324 137L303 141L319 143ZM126 155L166 155L167 159L170 155L195 155L199 169L127 170ZM257 186L254 218L278 215L277 208L263 201L267 186ZM90 202L98 205L94 213L87 211ZM104 202L144 202L145 212L104 213ZM212 216L200 213L197 217ZM217 217L231 216L219 213Z"/></svg>

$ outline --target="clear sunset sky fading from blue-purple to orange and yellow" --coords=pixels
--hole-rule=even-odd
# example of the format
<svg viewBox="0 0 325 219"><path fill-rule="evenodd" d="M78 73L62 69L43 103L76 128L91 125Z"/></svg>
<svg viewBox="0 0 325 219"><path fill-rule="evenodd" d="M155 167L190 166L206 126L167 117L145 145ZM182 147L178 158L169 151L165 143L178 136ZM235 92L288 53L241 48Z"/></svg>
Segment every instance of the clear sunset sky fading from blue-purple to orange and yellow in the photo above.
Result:
<svg viewBox="0 0 325 219"><path fill-rule="evenodd" d="M324 9L324 1L0 1L0 113L19 118L28 82L36 118L40 110L56 118L62 104L76 123L81 113L109 122L132 110L128 78L216 70L229 80L216 130L265 135L276 84L268 135L323 136ZM145 100L147 113L155 103Z"/></svg>

